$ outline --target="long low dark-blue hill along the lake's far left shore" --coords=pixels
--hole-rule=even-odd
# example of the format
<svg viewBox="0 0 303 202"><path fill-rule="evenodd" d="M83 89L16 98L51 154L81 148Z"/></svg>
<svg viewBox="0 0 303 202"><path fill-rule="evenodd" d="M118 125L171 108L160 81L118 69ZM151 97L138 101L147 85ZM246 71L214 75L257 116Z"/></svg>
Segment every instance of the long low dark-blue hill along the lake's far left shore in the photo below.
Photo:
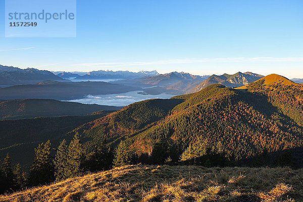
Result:
<svg viewBox="0 0 303 202"><path fill-rule="evenodd" d="M15 85L0 88L0 99L58 99L70 100L89 94L116 94L141 90L140 87L111 84L107 82L58 82L43 81L37 84Z"/></svg>

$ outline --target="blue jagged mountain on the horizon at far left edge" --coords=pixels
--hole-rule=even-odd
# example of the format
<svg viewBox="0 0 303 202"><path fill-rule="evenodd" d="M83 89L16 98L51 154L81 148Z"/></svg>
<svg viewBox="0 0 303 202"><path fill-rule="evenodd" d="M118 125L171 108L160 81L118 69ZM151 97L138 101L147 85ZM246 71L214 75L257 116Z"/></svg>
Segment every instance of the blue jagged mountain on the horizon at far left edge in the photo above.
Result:
<svg viewBox="0 0 303 202"><path fill-rule="evenodd" d="M34 68L20 69L0 65L0 85L33 84L45 80L69 81L52 72Z"/></svg>

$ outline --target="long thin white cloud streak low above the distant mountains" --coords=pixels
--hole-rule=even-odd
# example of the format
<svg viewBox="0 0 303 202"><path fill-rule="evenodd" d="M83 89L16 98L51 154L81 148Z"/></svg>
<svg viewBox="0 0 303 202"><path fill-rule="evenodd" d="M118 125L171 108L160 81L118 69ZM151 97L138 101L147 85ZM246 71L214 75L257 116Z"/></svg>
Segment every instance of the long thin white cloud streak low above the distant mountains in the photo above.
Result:
<svg viewBox="0 0 303 202"><path fill-rule="evenodd" d="M168 65L168 64L187 64L187 63L238 63L238 62L303 62L303 58L274 58L274 57L256 57L256 58L202 58L202 59L176 59L163 61L147 62L121 62L121 63L81 63L72 66L93 67L127 67L143 65Z"/></svg>

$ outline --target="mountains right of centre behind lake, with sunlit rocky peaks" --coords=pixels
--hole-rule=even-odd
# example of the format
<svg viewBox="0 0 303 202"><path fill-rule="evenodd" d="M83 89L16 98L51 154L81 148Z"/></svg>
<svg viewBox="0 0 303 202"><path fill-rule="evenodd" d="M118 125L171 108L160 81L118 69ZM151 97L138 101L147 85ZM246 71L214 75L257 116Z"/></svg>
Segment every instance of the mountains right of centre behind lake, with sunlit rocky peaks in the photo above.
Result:
<svg viewBox="0 0 303 202"><path fill-rule="evenodd" d="M264 76L251 72L238 72L233 75L223 74L220 76L198 76L184 72L171 72L144 78L112 81L111 83L140 86L144 88L144 92L147 94L168 93L178 95L197 92L212 84L239 87L254 82L262 77Z"/></svg>

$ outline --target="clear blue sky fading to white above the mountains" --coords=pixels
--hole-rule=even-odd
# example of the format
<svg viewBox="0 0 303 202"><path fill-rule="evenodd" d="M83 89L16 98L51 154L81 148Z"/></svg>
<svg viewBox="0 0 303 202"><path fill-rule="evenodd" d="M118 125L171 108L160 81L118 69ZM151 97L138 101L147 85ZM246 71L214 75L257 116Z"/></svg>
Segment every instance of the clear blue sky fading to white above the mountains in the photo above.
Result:
<svg viewBox="0 0 303 202"><path fill-rule="evenodd" d="M5 38L0 64L51 71L251 71L303 78L303 1L77 1L77 37Z"/></svg>

